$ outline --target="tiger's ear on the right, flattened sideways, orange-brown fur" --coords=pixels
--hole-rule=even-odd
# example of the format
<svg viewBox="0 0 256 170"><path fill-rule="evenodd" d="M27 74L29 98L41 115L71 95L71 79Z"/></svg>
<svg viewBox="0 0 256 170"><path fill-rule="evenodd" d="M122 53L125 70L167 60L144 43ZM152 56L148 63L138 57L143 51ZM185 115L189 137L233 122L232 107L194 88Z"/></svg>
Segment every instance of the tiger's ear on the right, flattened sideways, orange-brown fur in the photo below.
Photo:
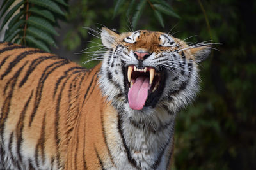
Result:
<svg viewBox="0 0 256 170"><path fill-rule="evenodd" d="M198 46L190 48L189 50L191 55L195 57L196 62L202 62L209 57L211 53L211 45Z"/></svg>

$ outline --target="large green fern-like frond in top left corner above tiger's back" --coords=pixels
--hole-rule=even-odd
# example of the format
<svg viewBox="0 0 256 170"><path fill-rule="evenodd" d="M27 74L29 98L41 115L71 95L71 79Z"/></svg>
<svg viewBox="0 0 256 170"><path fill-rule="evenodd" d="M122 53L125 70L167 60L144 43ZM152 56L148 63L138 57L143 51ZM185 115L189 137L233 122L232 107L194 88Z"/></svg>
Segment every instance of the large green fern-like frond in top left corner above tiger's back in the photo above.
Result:
<svg viewBox="0 0 256 170"><path fill-rule="evenodd" d="M50 46L57 48L53 38L58 35L56 20L65 19L65 0L4 0L0 6L0 31L3 41L40 48L49 52Z"/></svg>

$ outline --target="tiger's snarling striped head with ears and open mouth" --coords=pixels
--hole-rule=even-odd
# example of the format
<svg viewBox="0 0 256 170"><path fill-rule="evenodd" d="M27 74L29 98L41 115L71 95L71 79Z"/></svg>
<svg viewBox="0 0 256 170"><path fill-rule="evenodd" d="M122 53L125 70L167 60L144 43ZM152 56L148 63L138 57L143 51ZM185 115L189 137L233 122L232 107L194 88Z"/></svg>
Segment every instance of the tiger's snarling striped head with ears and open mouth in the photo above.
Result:
<svg viewBox="0 0 256 170"><path fill-rule="evenodd" d="M198 62L209 45L189 46L163 32L139 30L118 34L102 28L108 49L100 70L100 88L118 107L134 113L159 108L176 111L198 92Z"/></svg>

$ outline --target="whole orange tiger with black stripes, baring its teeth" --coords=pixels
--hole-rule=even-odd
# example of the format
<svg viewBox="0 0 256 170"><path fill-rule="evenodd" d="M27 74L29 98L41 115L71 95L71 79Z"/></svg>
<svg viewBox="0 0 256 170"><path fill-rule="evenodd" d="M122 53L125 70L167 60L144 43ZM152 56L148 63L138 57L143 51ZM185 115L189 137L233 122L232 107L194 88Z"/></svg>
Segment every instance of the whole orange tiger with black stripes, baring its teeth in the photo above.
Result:
<svg viewBox="0 0 256 170"><path fill-rule="evenodd" d="M195 99L211 46L148 30L99 34L93 69L0 43L1 168L170 169L175 117Z"/></svg>

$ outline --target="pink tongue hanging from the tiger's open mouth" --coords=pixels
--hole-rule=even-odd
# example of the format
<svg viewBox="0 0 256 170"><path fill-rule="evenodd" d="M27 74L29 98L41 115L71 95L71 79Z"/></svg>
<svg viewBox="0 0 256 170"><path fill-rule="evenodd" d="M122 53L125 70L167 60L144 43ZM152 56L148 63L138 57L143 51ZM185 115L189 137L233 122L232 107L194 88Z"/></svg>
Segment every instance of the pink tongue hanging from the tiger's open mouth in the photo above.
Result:
<svg viewBox="0 0 256 170"><path fill-rule="evenodd" d="M141 110L145 105L148 97L148 90L150 89L148 77L138 77L134 85L128 92L128 101L130 108L134 110Z"/></svg>

